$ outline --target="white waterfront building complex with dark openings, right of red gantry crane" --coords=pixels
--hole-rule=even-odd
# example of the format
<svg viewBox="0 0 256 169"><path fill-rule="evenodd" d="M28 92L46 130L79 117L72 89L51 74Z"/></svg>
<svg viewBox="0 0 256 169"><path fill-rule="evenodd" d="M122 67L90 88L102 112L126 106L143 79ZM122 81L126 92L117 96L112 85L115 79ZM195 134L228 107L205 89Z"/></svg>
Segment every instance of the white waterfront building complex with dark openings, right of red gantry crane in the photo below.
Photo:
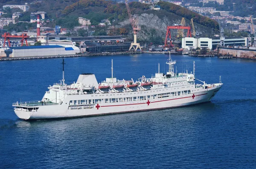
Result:
<svg viewBox="0 0 256 169"><path fill-rule="evenodd" d="M225 46L249 46L251 38L250 37L226 37L224 40ZM209 48L214 50L220 43L220 37L185 37L182 38L182 48L188 50L196 48Z"/></svg>

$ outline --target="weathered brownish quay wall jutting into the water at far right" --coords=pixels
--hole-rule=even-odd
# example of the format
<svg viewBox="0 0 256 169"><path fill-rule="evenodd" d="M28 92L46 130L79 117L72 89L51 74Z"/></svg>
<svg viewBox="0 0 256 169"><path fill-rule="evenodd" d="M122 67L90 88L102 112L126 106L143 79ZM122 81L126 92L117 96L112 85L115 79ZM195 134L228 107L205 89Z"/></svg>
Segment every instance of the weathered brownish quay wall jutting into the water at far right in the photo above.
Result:
<svg viewBox="0 0 256 169"><path fill-rule="evenodd" d="M224 55L241 59L256 59L256 50L241 48L218 48L218 56Z"/></svg>

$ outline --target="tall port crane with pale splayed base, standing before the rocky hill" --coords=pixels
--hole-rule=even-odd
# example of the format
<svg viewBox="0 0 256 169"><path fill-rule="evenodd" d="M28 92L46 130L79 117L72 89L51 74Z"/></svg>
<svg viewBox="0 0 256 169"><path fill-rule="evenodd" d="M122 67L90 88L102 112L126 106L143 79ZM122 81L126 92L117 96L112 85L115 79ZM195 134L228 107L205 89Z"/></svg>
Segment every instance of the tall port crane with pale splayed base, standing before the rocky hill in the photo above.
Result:
<svg viewBox="0 0 256 169"><path fill-rule="evenodd" d="M131 23L131 27L132 27L133 33L134 33L134 42L131 43L129 51L131 51L131 49L134 49L134 51L137 51L138 48L141 50L140 43L137 43L137 33L138 33L138 31L141 30L141 28L140 28L136 18L133 18L131 15L131 10L130 10L129 4L128 4L128 0L125 0L125 6L127 8L127 12L129 15L129 21Z"/></svg>

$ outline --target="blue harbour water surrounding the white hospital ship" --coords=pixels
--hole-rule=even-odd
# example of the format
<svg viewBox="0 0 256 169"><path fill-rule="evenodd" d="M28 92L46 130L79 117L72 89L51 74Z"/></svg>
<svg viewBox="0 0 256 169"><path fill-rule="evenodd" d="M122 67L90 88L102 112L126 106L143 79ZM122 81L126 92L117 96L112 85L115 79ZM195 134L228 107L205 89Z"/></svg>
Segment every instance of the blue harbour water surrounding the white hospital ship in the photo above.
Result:
<svg viewBox="0 0 256 169"><path fill-rule="evenodd" d="M67 58L65 79L151 77L168 55ZM61 59L0 62L0 168L256 168L256 61L172 56L224 86L212 102L168 110L23 121L12 103L40 100L62 79Z"/></svg>

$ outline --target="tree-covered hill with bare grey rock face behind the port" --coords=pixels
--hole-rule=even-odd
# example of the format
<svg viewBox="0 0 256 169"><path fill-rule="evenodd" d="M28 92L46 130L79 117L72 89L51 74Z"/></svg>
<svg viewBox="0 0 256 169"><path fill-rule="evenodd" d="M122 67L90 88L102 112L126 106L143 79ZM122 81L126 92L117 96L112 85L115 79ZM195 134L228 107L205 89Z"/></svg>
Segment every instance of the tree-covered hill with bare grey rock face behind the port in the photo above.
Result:
<svg viewBox="0 0 256 169"><path fill-rule="evenodd" d="M23 4L19 0L12 0ZM26 0L26 2L32 0ZM5 3L6 4L6 3ZM129 6L131 13L137 18L142 30L138 33L140 42L153 42L162 44L166 34L166 27L180 23L182 17L186 19L186 25L190 25L190 19L194 19L196 30L200 31L204 37L212 36L212 28L215 34L218 33L218 23L207 17L203 17L186 8L177 6L168 2L159 2L157 4L161 10L152 10L149 4L131 2ZM133 39L132 28L128 20L128 13L125 3L116 3L107 0L42 0L29 5L29 11L19 17L17 21L29 21L31 12L45 11L50 19L44 26L54 27L60 25L62 28L72 30L79 26L78 17L90 19L91 25L95 28L89 28L88 31L94 31L93 35L122 35L128 39ZM111 25L98 26L103 19L108 19ZM16 24L15 24L16 25ZM15 25L7 26L6 29L28 28L34 24L23 23L15 28ZM17 30L17 31L20 31ZM177 31L176 31L177 32ZM74 34L70 34L74 35ZM79 30L77 35L87 36L88 32Z"/></svg>

